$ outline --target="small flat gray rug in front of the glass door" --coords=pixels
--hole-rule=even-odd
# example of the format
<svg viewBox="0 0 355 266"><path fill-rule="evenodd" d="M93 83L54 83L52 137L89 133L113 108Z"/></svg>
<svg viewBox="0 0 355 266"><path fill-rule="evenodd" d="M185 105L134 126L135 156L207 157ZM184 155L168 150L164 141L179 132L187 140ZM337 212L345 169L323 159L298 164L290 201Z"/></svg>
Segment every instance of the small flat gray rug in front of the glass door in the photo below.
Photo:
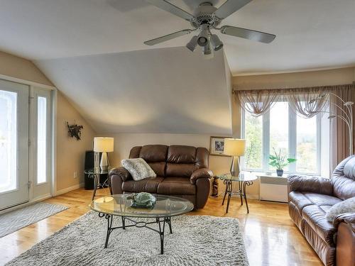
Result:
<svg viewBox="0 0 355 266"><path fill-rule="evenodd" d="M66 206L38 202L7 214L1 214L0 238L66 209L68 209Z"/></svg>

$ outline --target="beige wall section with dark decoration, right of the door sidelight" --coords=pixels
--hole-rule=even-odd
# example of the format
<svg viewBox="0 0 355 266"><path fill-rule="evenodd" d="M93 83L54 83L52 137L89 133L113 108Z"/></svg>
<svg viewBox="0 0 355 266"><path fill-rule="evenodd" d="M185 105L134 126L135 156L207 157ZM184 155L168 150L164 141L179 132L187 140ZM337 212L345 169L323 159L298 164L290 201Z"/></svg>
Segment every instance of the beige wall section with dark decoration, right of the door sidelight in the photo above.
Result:
<svg viewBox="0 0 355 266"><path fill-rule="evenodd" d="M84 126L82 138L70 138L66 122ZM58 92L57 101L57 191L84 182L84 153L92 150L95 133L67 98ZM77 178L74 178L77 172Z"/></svg>

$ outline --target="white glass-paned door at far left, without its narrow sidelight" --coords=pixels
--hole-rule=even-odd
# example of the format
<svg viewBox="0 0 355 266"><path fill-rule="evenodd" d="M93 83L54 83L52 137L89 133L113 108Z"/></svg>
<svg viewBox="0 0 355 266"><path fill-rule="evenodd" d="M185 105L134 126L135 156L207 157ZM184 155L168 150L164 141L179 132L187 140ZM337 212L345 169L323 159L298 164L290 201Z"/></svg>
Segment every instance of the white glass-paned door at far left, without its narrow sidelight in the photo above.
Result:
<svg viewBox="0 0 355 266"><path fill-rule="evenodd" d="M28 201L29 87L0 80L0 210Z"/></svg>

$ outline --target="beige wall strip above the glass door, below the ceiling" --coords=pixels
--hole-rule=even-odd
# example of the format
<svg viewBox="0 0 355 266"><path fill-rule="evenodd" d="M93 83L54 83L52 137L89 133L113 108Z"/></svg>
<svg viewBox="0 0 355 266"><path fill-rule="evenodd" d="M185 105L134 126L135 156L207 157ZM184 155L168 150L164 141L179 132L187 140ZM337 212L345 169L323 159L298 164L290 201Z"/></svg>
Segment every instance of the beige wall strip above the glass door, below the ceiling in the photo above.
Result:
<svg viewBox="0 0 355 266"><path fill-rule="evenodd" d="M38 70L33 62L6 52L0 52L0 74L53 86L52 82Z"/></svg>

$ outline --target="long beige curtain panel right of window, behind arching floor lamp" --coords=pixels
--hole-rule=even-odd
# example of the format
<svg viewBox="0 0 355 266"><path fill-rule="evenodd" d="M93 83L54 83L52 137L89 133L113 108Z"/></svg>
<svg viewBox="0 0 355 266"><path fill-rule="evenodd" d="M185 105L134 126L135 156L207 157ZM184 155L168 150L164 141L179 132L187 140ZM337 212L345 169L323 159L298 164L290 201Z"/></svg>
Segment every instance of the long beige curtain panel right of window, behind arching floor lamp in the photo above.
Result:
<svg viewBox="0 0 355 266"><path fill-rule="evenodd" d="M355 103L355 85L342 85L334 87L330 92L339 96L343 101L352 101ZM344 106L344 103L337 98L337 96L331 95L330 101L332 104L330 105L330 113L334 115L342 115L344 113L340 111L337 106ZM354 111L354 106L351 106ZM353 121L355 121L355 116L353 113ZM353 135L351 138L354 140L354 130L355 127L353 125ZM354 149L354 143L353 143ZM344 121L340 118L333 118L330 122L330 168L334 170L335 167L349 156L349 128Z"/></svg>

